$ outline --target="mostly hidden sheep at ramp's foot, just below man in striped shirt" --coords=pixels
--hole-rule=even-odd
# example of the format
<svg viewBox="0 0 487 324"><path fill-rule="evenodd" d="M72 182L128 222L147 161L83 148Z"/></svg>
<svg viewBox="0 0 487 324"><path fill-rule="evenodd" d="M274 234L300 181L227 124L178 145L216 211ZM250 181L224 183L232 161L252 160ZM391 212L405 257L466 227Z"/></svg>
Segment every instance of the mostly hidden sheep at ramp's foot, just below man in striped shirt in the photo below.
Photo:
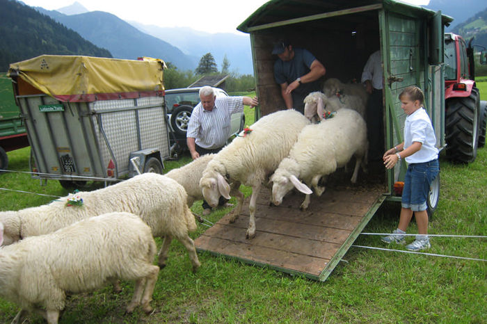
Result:
<svg viewBox="0 0 487 324"><path fill-rule="evenodd" d="M176 180L184 187L186 193L188 194L188 206L190 208L193 206L193 202L196 200L204 199L200 188L200 179L203 170L205 170L208 162L213 159L214 155L215 154L202 155L198 159L191 161L191 163L183 165L181 168L170 170L170 172L166 173L166 177ZM234 193L237 193L239 196L237 199L244 199L244 194L240 191L237 190L234 191Z"/></svg>

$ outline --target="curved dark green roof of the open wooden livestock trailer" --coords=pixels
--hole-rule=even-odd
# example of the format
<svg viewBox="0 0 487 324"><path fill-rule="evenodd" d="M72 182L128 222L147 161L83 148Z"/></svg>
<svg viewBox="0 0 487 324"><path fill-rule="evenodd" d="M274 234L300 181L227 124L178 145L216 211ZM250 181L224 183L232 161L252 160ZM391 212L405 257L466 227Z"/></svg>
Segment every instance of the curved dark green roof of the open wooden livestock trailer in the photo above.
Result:
<svg viewBox="0 0 487 324"><path fill-rule="evenodd" d="M337 15L387 8L398 13L433 16L435 11L394 0L271 0L250 15L237 29L244 33L307 22ZM453 18L442 15L449 25Z"/></svg>

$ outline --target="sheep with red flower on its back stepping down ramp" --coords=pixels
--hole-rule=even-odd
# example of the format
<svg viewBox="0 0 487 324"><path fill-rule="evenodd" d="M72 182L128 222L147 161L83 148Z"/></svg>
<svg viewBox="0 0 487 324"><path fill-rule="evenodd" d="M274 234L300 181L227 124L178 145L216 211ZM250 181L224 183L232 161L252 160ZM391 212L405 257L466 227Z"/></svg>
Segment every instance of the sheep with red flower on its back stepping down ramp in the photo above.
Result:
<svg viewBox="0 0 487 324"><path fill-rule="evenodd" d="M294 110L266 115L251 125L250 131L242 131L232 143L223 147L203 171L200 187L210 206L218 204L220 195L230 198L229 180L236 181L237 188L240 183L252 187L246 238L255 236L255 205L262 183L289 154L298 133L307 124L310 121ZM241 213L242 202L243 199L237 197L230 222Z"/></svg>

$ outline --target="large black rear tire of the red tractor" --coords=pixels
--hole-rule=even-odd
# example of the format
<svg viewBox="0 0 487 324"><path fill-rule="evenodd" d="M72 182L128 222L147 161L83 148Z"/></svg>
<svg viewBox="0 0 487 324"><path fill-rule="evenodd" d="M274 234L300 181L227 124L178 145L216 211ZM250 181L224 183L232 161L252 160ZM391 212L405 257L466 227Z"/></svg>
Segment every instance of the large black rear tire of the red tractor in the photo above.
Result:
<svg viewBox="0 0 487 324"><path fill-rule="evenodd" d="M449 99L446 103L447 158L454 163L471 163L477 157L480 100L472 88L468 97Z"/></svg>

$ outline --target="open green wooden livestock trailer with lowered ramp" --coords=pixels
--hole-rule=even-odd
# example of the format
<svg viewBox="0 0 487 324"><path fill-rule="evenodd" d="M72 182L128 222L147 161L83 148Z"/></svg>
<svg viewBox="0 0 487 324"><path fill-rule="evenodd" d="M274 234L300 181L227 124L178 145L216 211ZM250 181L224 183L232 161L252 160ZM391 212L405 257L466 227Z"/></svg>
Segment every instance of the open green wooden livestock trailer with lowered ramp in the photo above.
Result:
<svg viewBox="0 0 487 324"><path fill-rule="evenodd" d="M285 107L273 77L273 43L286 38L309 49L326 67L326 78L360 82L362 69L381 49L385 150L402 141L406 115L398 95L406 86L424 90L425 108L436 131L438 149L445 147L443 32L451 17L393 0L273 0L250 15L238 29L250 33L260 110L256 118ZM394 183L406 165L385 170L381 161L360 172L356 186L341 170L330 177L321 197L299 211L303 197L289 195L281 206L269 206L269 194L257 206L257 234L245 239L248 219L234 224L225 216L196 240L198 249L271 266L287 273L324 281L385 200L399 202ZM343 175L342 175L343 174ZM438 204L439 179L432 186L429 210ZM299 195L297 195L299 196ZM247 212L248 214L248 212Z"/></svg>

